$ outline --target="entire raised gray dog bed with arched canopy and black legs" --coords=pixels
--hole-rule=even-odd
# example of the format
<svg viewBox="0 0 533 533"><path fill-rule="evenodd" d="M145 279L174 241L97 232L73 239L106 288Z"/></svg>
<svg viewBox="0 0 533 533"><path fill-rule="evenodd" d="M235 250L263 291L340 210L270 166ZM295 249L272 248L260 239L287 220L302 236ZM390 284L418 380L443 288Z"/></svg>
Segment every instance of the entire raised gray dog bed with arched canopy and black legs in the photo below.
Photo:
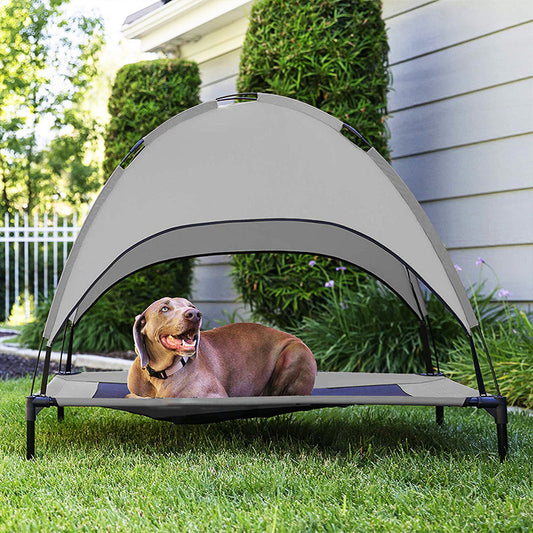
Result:
<svg viewBox="0 0 533 533"><path fill-rule="evenodd" d="M484 408L496 420L503 460L506 399L494 373L497 395L486 392L473 342L478 322L450 257L392 167L343 130L362 139L312 106L254 93L180 113L132 148L92 207L57 287L43 333L40 392L34 394L34 379L26 401L28 458L44 407L56 406L60 417L66 406L99 406L201 423L386 404L435 406L439 423L444 406ZM304 397L138 400L125 398L126 372L71 372L76 324L115 283L168 259L239 252L307 252L369 272L418 317L424 374L319 372L313 394ZM478 390L444 377L433 364L419 282L470 339ZM62 330L65 340L69 328L65 369L48 383L52 344Z"/></svg>

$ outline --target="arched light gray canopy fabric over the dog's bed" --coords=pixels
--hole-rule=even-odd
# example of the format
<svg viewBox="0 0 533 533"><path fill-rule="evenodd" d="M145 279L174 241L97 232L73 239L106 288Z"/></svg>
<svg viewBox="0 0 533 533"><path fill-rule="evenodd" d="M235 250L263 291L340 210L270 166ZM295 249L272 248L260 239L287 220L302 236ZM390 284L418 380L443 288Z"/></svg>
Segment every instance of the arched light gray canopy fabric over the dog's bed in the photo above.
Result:
<svg viewBox="0 0 533 533"><path fill-rule="evenodd" d="M475 314L428 217L392 167L342 128L312 106L259 94L201 104L154 130L114 171L80 231L46 322L48 346L140 268L253 251L348 261L419 317L420 280L470 332Z"/></svg>

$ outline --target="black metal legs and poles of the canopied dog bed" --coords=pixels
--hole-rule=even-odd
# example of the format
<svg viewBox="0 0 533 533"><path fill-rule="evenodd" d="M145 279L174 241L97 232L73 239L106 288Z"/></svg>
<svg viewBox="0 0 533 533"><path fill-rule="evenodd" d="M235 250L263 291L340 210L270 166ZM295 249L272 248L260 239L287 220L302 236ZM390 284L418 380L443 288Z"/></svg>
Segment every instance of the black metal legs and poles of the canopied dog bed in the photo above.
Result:
<svg viewBox="0 0 533 533"><path fill-rule="evenodd" d="M217 102L253 101L253 100L257 100L257 93L231 94L231 95L221 96L217 98L216 100ZM370 148L372 148L372 145L355 128L353 128L352 126L346 123L343 123L342 126L344 129L356 135L359 139L365 142ZM126 161L130 157L133 160L142 151L143 148L144 148L144 139L140 139L130 149L126 157L124 157L124 159L120 162L119 166L122 168L125 168ZM424 315L421 309L420 309L420 315L421 316ZM424 363L426 367L425 375L435 375L435 376L442 375L440 373L440 368L439 368L439 360L438 360L438 354L437 354L437 349L435 345L435 339L433 336L433 332L431 330L431 323L427 315L425 316L425 319L420 320L419 326L420 326L420 339L421 339L421 344L422 344L422 354L423 354ZM73 337L74 337L74 329L75 329L74 323L71 323L71 327L70 327L70 336L69 336L67 361L65 364L65 370L64 371L61 370L63 348L64 348L67 328L68 328L68 322L64 326L63 343L61 346L60 368L58 372L59 374L77 373L77 372L72 372L72 346L73 346ZM496 431L497 431L497 439L498 439L498 455L500 457L500 461L503 462L509 450L509 443L508 443L508 436L507 436L507 422L508 422L507 399L505 396L501 396L500 394L500 389L498 386L498 381L496 379L496 374L494 372L494 367L492 365L490 354L489 354L485 339L483 337L483 332L481 328L478 328L478 332L481 336L483 347L484 347L484 350L485 350L485 353L486 353L486 356L489 362L494 384L496 386L497 395L489 396L486 393L485 383L483 381L483 375L481 373L481 368L479 365L479 360L478 360L478 356L477 356L477 352L476 352L476 348L474 344L473 333L467 332L468 337L469 337L470 348L472 352L472 360L474 363L474 370L476 373L476 380L477 380L480 396L467 398L465 403L463 404L463 407L477 407L479 409L484 409L494 418L496 422ZM432 347L433 347L433 352L434 352L433 355L435 356L435 360L436 360L435 367L433 366L429 333L431 333L431 341L432 341ZM43 341L44 339L41 341L41 347L39 348L39 354L38 354L37 361L35 364L35 370L33 373L33 381L31 385L31 392L30 392L30 395L26 397L26 458L27 459L33 459L35 457L35 422L37 419L37 414L46 407L57 407L58 420L60 421L64 420L64 416L65 416L64 407L59 406L55 398L52 398L46 395L46 388L48 384L48 374L50 370L50 359L51 359L51 354L52 354L51 345L46 346L44 369L43 369L40 393L39 394L33 393L35 379L37 375L37 369L38 369L39 362L40 362ZM52 342L50 342L50 344L52 344ZM279 414L281 414L281 412L282 411L280 411ZM276 413L271 413L271 414L273 415ZM444 406L436 406L435 418L436 418L436 423L439 426L444 423Z"/></svg>

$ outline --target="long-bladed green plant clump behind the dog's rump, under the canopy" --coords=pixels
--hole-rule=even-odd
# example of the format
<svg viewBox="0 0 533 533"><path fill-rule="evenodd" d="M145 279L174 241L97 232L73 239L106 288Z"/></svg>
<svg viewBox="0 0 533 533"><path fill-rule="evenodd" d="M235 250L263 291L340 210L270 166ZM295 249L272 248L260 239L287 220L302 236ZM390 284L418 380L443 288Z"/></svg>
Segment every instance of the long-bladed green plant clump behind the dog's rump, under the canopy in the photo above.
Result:
<svg viewBox="0 0 533 533"><path fill-rule="evenodd" d="M330 280L313 313L290 331L313 351L321 370L423 372L419 323L412 311L374 278L351 269L322 272ZM487 325L504 311L477 287L473 297ZM457 320L433 295L427 298L437 356L446 361L464 336ZM435 359L433 359L435 363Z"/></svg>

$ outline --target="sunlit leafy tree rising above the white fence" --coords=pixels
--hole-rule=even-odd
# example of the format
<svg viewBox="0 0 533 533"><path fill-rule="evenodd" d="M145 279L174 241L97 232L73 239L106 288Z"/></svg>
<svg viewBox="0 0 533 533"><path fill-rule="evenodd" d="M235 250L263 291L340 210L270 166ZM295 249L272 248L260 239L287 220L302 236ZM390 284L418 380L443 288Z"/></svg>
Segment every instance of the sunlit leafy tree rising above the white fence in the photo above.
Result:
<svg viewBox="0 0 533 533"><path fill-rule="evenodd" d="M103 26L97 18L67 18L67 3L9 0L0 7L2 213L31 213L62 196L76 201L95 188L95 167L85 159L94 124L82 103L97 74ZM66 162L61 170L58 157ZM66 194L72 183L79 198Z"/></svg>

